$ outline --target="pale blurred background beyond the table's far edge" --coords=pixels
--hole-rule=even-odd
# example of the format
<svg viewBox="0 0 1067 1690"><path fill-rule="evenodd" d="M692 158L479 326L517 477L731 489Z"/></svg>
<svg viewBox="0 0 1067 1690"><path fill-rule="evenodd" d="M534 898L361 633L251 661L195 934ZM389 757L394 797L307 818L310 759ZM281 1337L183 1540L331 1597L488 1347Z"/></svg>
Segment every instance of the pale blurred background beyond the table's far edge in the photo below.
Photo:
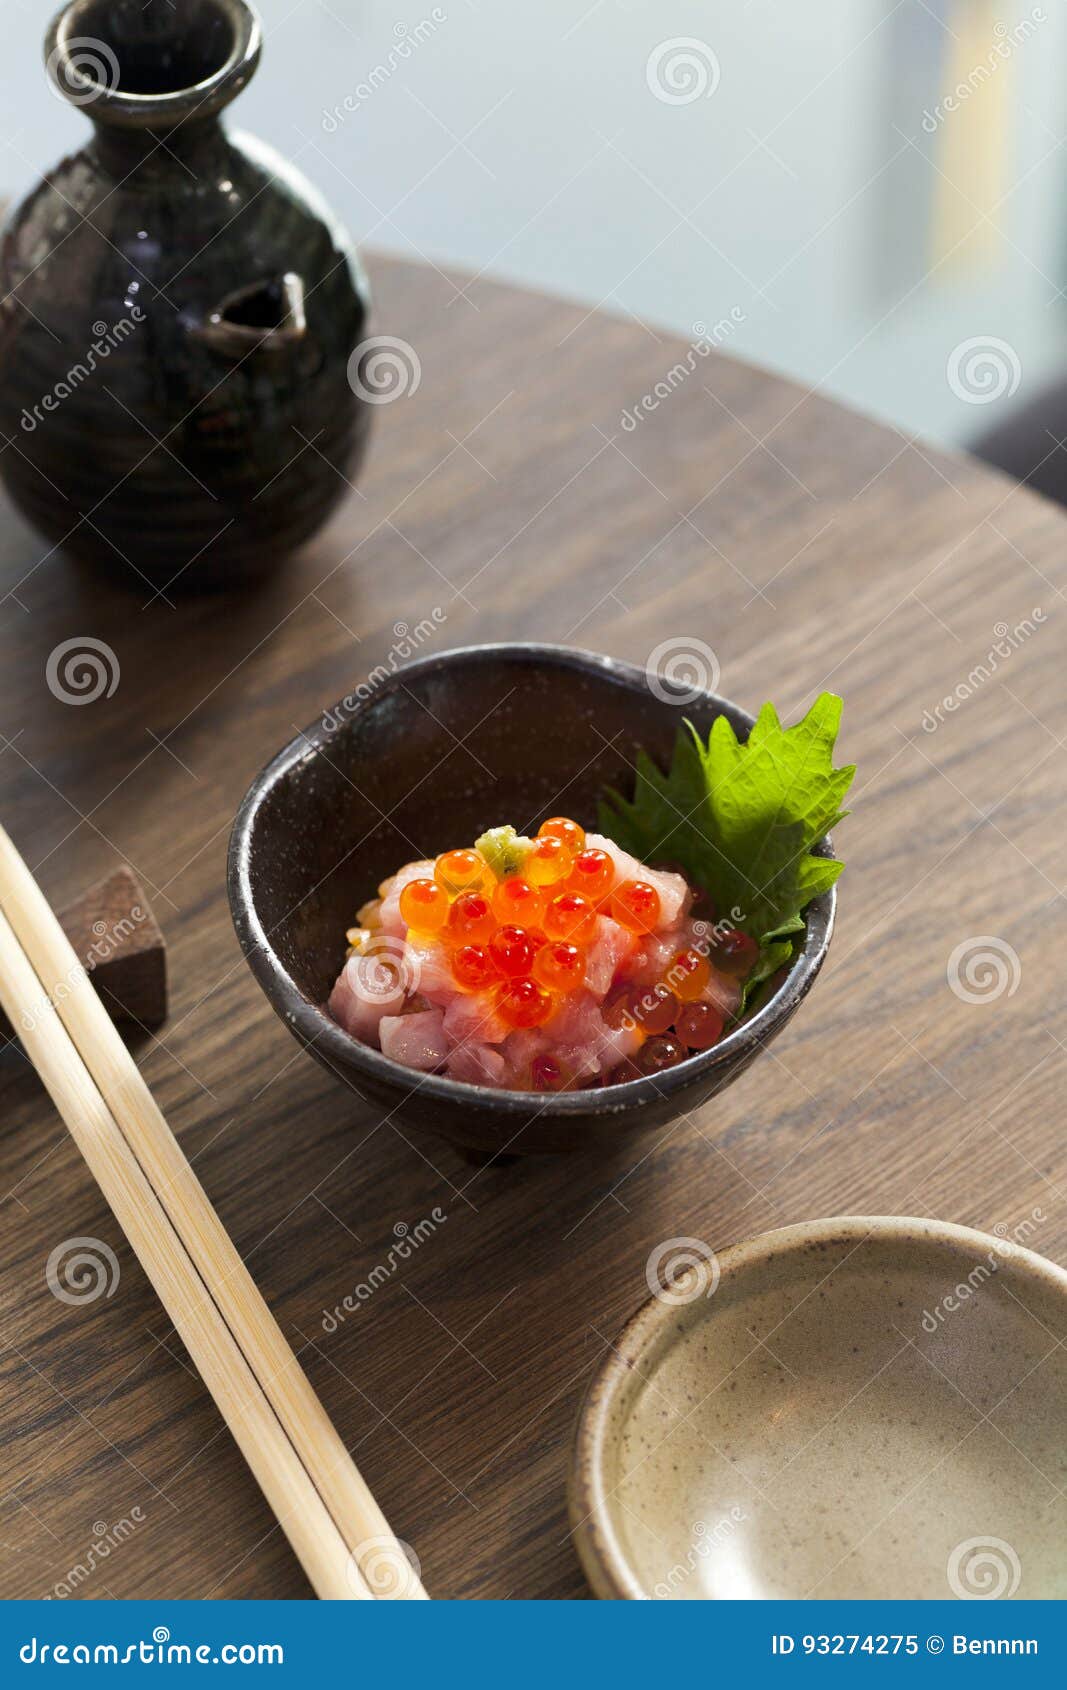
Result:
<svg viewBox="0 0 1067 1690"><path fill-rule="evenodd" d="M259 8L233 122L362 242L683 336L729 319L729 350L947 443L1067 368L1059 0ZM85 134L51 10L3 0L7 196Z"/></svg>

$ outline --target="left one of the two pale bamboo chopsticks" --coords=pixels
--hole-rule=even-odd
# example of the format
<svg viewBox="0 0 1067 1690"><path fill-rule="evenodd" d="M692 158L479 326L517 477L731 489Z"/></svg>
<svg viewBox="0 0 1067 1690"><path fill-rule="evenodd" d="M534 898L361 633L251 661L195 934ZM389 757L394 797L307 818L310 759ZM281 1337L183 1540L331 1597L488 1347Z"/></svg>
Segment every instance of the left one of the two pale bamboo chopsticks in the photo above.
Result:
<svg viewBox="0 0 1067 1690"><path fill-rule="evenodd" d="M369 1597L277 1415L0 913L0 1002L320 1597ZM27 1012L30 1011L30 1012Z"/></svg>

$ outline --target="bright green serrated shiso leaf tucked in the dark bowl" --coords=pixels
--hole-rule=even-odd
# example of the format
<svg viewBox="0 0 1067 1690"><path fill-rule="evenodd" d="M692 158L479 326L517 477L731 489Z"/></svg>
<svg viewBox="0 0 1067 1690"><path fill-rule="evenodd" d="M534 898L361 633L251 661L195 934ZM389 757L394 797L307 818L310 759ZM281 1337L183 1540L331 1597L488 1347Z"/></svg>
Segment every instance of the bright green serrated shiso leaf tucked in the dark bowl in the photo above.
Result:
<svg viewBox="0 0 1067 1690"><path fill-rule="evenodd" d="M609 838L641 862L680 864L712 894L720 921L759 941L746 1002L791 960L803 911L844 867L812 855L847 815L856 774L834 767L840 711L840 698L820 693L802 722L783 728L768 703L744 744L727 717L717 717L707 744L687 722L666 774L639 752L632 799L609 789L599 806Z"/></svg>

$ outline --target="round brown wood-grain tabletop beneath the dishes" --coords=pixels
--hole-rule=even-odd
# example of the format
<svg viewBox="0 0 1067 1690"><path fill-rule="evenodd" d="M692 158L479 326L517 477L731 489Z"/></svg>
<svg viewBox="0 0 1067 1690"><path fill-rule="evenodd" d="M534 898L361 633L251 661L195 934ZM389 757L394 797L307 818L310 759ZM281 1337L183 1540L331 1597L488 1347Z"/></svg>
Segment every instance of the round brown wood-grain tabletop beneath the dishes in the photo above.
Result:
<svg viewBox="0 0 1067 1690"><path fill-rule="evenodd" d="M380 407L326 532L245 603L39 563L5 510L2 813L56 902L118 860L149 886L172 1009L144 1070L430 1590L578 1597L572 1425L659 1240L920 1213L1021 1227L1067 1261L1067 524L719 355L626 428L676 340L433 269L374 275L421 385ZM249 779L435 612L423 649L529 637L644 662L695 635L749 708L845 698L859 776L827 968L773 1053L639 1156L479 1171L375 1126L238 953L223 869ZM993 666L1003 625L1020 634ZM74 635L120 662L83 708L46 686ZM947 967L982 935L1018 985L969 1002ZM308 1595L36 1078L0 1070L0 1095L5 1594ZM446 1224L325 1332L435 1207ZM51 1295L69 1237L115 1251L112 1296Z"/></svg>

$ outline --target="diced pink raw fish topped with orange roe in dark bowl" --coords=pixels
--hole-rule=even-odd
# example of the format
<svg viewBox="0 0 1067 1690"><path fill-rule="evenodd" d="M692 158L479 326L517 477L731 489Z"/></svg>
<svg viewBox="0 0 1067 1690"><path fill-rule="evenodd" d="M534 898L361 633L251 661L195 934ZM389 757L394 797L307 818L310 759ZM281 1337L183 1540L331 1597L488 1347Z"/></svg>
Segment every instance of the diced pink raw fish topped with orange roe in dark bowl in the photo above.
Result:
<svg viewBox="0 0 1067 1690"><path fill-rule="evenodd" d="M759 957L680 865L553 816L489 828L377 889L330 1012L392 1061L558 1092L649 1078L734 1024Z"/></svg>

